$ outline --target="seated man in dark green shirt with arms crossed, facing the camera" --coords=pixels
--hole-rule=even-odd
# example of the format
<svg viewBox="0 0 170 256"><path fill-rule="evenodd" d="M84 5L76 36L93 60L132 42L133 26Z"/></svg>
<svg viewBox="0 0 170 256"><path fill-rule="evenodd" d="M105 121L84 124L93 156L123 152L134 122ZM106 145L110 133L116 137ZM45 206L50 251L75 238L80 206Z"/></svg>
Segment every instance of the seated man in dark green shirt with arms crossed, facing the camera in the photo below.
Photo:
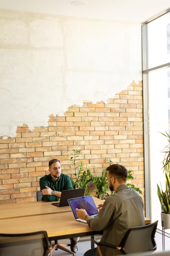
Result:
<svg viewBox="0 0 170 256"><path fill-rule="evenodd" d="M49 172L49 175L40 178L42 200L46 202L58 201L62 190L73 189L71 179L68 175L62 174L61 164L58 159L49 161ZM70 240L71 251L76 253L79 237L70 238Z"/></svg>

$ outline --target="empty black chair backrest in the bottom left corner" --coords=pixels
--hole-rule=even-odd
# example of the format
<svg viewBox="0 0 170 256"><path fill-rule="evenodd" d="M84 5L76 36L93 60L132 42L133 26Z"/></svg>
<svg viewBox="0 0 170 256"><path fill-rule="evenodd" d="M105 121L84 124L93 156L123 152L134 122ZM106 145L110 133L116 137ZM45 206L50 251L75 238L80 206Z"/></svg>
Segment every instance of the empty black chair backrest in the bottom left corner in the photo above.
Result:
<svg viewBox="0 0 170 256"><path fill-rule="evenodd" d="M0 234L0 256L47 256L49 239L46 231L25 234Z"/></svg>

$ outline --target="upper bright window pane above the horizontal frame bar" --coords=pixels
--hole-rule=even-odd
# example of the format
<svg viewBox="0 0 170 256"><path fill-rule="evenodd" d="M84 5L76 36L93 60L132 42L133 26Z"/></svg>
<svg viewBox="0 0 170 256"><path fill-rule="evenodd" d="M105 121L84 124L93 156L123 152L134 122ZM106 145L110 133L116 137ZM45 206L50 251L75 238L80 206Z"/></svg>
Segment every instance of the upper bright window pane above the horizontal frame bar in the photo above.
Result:
<svg viewBox="0 0 170 256"><path fill-rule="evenodd" d="M170 12L148 23L148 68L170 62Z"/></svg>

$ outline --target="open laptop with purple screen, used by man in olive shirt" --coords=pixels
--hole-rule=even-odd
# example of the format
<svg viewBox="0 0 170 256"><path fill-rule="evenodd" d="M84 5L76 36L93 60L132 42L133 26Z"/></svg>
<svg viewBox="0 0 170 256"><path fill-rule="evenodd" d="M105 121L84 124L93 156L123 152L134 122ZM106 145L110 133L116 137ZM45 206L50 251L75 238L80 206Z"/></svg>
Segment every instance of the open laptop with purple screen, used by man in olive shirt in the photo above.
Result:
<svg viewBox="0 0 170 256"><path fill-rule="evenodd" d="M77 221L87 223L86 220L82 220L77 217L77 213L75 211L76 208L85 209L89 216L96 216L99 213L99 211L95 205L95 202L93 200L93 197L91 195L86 195L86 196L82 196L79 198L68 199L68 204L70 205L71 210L73 211L75 220L77 220Z"/></svg>

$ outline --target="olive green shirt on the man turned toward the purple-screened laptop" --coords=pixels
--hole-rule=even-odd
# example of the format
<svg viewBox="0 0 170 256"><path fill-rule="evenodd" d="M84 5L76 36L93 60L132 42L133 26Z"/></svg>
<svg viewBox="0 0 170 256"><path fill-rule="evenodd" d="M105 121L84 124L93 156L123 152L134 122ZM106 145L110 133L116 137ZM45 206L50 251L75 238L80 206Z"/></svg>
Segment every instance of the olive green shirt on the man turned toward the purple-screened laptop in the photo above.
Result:
<svg viewBox="0 0 170 256"><path fill-rule="evenodd" d="M99 214L89 216L87 222L96 231L103 230L101 242L118 246L128 229L145 225L143 200L134 189L126 184L121 185L106 198ZM116 249L102 245L100 249L103 256L121 254Z"/></svg>

